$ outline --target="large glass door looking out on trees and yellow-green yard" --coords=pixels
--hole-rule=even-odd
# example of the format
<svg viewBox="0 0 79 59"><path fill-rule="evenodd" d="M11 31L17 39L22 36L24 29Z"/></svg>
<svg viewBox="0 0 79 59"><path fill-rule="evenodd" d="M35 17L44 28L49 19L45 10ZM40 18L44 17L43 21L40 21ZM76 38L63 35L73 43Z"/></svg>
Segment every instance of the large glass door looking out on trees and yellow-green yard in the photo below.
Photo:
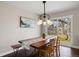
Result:
<svg viewBox="0 0 79 59"><path fill-rule="evenodd" d="M53 18L52 25L47 27L48 35L60 35L61 41L70 41L71 39L71 17Z"/></svg>

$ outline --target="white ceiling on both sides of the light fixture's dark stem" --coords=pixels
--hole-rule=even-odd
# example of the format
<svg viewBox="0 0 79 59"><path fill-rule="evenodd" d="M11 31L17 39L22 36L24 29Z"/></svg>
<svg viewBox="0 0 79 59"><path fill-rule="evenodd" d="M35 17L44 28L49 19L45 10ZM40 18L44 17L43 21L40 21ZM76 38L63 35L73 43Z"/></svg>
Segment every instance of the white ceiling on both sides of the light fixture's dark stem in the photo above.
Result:
<svg viewBox="0 0 79 59"><path fill-rule="evenodd" d="M26 11L35 15L43 14L42 1L4 1L3 3L25 9ZM46 13L56 13L77 8L78 6L79 1L47 1Z"/></svg>

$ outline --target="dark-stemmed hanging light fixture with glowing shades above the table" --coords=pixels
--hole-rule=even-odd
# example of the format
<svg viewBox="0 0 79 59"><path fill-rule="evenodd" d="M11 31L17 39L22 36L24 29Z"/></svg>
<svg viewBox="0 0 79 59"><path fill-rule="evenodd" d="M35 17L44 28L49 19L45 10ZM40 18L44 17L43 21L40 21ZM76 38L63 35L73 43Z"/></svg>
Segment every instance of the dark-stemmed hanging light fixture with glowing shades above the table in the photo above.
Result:
<svg viewBox="0 0 79 59"><path fill-rule="evenodd" d="M46 13L45 13L45 3L46 3L46 1L43 1L43 4L44 4L44 14L42 14L42 15L40 15L40 20L38 21L38 25L51 25L52 24L52 22L49 20L49 15L47 15Z"/></svg>

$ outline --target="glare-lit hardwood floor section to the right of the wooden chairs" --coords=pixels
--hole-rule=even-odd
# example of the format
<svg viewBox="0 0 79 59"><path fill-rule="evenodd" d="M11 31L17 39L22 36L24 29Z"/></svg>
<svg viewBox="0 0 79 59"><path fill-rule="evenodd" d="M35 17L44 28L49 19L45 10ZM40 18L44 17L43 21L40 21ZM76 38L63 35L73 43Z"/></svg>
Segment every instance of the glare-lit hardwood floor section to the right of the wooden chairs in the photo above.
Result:
<svg viewBox="0 0 79 59"><path fill-rule="evenodd" d="M79 49L60 47L60 57L79 57Z"/></svg>

